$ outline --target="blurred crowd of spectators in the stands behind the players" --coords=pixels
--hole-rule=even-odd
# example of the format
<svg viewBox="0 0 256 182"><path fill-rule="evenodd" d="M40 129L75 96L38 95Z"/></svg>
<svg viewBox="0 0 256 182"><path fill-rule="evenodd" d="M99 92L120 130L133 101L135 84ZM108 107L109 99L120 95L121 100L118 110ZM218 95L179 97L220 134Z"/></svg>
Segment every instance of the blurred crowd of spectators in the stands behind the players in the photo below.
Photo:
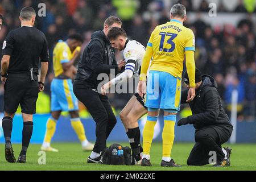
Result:
<svg viewBox="0 0 256 182"><path fill-rule="evenodd" d="M90 41L90 35L96 30L101 30L105 19L110 15L121 18L129 38L141 42L144 46L152 30L158 24L169 20L168 11L164 8L164 0L2 0L0 13L5 19L0 31L1 45L7 33L20 26L18 18L20 9L24 6L32 6L38 10L38 4L41 2L46 3L46 17L38 17L36 27L46 34L51 60L53 48L59 39L65 40L69 34L77 32L84 37L83 47L85 47ZM195 22L184 23L196 36L196 66L203 74L215 78L218 92L228 113L231 110L232 92L237 89L238 119L255 121L256 24L251 19L252 15L248 14L246 19L237 23L237 26L226 24L221 28L212 27L200 18L200 12L209 11L207 1L201 1L199 9L196 10L192 8L191 0L172 2L183 3L188 12L193 11L197 14ZM255 16L255 6L253 9L252 7L240 1L233 12L250 12ZM218 11L227 12L221 5ZM117 57L121 57L121 54L118 53ZM54 77L52 64L49 71L45 90L48 95L50 95L49 85ZM122 109L130 97L129 94L113 94L110 100L116 109ZM3 85L0 86L0 112L3 110L2 98Z"/></svg>

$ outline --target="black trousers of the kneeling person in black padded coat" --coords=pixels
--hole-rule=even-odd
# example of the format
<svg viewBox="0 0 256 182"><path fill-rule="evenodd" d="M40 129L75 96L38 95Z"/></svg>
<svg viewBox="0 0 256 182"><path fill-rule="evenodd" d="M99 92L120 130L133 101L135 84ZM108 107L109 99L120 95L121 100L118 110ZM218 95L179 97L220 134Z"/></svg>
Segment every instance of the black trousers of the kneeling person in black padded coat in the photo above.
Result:
<svg viewBox="0 0 256 182"><path fill-rule="evenodd" d="M188 166L203 166L209 164L209 159L212 154L210 151L215 151L217 155L217 163L225 158L225 154L221 149L221 144L228 141L232 134L230 130L213 127L204 127L197 130L195 133L196 144L192 148L187 160ZM211 160L210 160L211 162Z"/></svg>

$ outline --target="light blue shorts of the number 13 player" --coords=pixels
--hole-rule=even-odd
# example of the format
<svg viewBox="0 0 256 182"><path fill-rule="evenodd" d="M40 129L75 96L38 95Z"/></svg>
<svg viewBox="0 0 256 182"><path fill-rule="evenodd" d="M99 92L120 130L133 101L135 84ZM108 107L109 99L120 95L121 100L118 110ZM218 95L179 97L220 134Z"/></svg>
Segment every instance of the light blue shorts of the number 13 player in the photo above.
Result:
<svg viewBox="0 0 256 182"><path fill-rule="evenodd" d="M167 72L150 71L147 80L146 106L180 110L181 78Z"/></svg>

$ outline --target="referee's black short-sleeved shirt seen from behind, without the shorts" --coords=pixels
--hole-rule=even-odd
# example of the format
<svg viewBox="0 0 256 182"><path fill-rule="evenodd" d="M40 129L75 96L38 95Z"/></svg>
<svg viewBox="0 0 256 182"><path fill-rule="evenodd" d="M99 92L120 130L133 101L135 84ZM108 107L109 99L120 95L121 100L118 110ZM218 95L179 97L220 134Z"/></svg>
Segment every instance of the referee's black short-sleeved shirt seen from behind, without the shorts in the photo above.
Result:
<svg viewBox="0 0 256 182"><path fill-rule="evenodd" d="M38 73L39 61L48 62L48 45L43 32L34 27L20 27L12 30L3 42L3 55L10 55L7 73Z"/></svg>

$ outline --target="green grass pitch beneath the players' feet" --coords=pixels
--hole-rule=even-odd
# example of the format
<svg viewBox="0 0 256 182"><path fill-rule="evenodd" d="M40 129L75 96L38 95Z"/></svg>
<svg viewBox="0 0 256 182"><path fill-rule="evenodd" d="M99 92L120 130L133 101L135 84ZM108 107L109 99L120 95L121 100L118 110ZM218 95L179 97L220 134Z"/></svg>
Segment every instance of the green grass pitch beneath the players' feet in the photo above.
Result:
<svg viewBox="0 0 256 182"><path fill-rule="evenodd" d="M128 143L121 143L123 146L129 146ZM162 160L162 144L153 143L151 147L152 167L141 166L107 166L102 164L88 164L87 157L90 152L82 152L79 143L53 143L53 147L59 149L59 152L46 152L46 165L38 164L38 152L40 144L31 144L28 148L27 164L7 163L5 160L5 146L0 144L0 170L105 170L105 171L159 171L159 170L179 170L179 171L228 171L228 170L256 170L256 144L226 144L233 148L231 155L231 166L216 168L211 166L187 166L186 160L193 147L193 143L175 143L172 156L181 168L160 167ZM18 158L20 144L14 144L14 155Z"/></svg>

